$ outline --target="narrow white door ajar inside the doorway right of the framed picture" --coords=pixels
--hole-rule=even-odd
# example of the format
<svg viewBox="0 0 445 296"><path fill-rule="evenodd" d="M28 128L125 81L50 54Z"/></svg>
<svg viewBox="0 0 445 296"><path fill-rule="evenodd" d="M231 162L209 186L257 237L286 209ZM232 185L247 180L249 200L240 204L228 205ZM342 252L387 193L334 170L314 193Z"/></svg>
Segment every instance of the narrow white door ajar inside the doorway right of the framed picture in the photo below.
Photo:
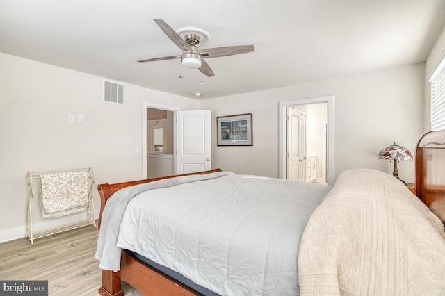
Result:
<svg viewBox="0 0 445 296"><path fill-rule="evenodd" d="M306 115L287 108L287 179L305 181Z"/></svg>

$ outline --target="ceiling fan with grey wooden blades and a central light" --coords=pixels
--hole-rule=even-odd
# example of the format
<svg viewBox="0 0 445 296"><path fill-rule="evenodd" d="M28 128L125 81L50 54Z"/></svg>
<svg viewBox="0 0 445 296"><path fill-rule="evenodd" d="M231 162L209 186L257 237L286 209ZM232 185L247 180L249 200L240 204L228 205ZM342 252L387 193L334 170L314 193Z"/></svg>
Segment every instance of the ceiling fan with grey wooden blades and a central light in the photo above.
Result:
<svg viewBox="0 0 445 296"><path fill-rule="evenodd" d="M198 44L203 44L209 40L209 33L199 28L184 28L185 35L181 37L179 33L172 29L162 19L154 19L165 35L182 50L180 56L164 56L162 58L149 58L138 60L139 63L154 62L156 60L172 60L181 58L181 64L191 69L199 69L207 77L215 76L209 64L204 58L218 58L219 56L233 56L234 54L245 54L254 51L253 45L239 45L232 47L216 47L213 49L200 49ZM179 30L178 30L179 31ZM204 40L204 42L202 42Z"/></svg>

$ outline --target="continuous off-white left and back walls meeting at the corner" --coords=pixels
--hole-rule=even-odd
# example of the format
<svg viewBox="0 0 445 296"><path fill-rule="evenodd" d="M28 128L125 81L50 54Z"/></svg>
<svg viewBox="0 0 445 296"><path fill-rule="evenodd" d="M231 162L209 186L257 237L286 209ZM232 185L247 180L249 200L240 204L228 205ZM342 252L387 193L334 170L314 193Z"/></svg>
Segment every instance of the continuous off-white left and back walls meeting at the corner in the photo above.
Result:
<svg viewBox="0 0 445 296"><path fill-rule="evenodd" d="M143 154L135 147L142 147L143 101L212 110L213 167L277 177L279 102L332 94L335 175L353 167L391 172L376 156L394 141L414 152L425 71L418 64L201 102L126 84L125 105L117 106L102 103L101 77L0 54L0 242L24 236L29 171L91 166L98 183L141 179ZM216 117L251 112L254 145L217 147ZM70 123L69 114L85 122ZM412 161L399 171L414 181Z"/></svg>

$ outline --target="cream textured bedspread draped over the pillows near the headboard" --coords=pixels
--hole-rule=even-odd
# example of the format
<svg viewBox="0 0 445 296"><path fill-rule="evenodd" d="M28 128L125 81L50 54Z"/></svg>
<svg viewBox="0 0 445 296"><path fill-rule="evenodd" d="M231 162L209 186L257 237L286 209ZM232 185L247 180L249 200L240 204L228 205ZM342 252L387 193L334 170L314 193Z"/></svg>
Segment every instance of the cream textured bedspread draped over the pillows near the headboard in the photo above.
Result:
<svg viewBox="0 0 445 296"><path fill-rule="evenodd" d="M310 218L298 272L302 295L445 295L444 225L394 176L349 170Z"/></svg>

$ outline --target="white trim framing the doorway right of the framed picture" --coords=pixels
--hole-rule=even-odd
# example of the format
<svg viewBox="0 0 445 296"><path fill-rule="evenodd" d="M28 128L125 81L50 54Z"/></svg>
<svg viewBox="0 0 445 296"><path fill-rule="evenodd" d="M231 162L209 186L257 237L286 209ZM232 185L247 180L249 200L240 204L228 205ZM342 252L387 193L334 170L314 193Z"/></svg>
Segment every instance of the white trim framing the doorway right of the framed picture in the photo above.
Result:
<svg viewBox="0 0 445 296"><path fill-rule="evenodd" d="M327 121L329 122L329 129L327 131L327 183L334 184L334 96L328 95L323 97L312 97L306 99L295 99L291 101L280 101L280 124L279 124L279 149L278 149L278 178L286 178L286 108L298 105L320 104L327 103Z"/></svg>

